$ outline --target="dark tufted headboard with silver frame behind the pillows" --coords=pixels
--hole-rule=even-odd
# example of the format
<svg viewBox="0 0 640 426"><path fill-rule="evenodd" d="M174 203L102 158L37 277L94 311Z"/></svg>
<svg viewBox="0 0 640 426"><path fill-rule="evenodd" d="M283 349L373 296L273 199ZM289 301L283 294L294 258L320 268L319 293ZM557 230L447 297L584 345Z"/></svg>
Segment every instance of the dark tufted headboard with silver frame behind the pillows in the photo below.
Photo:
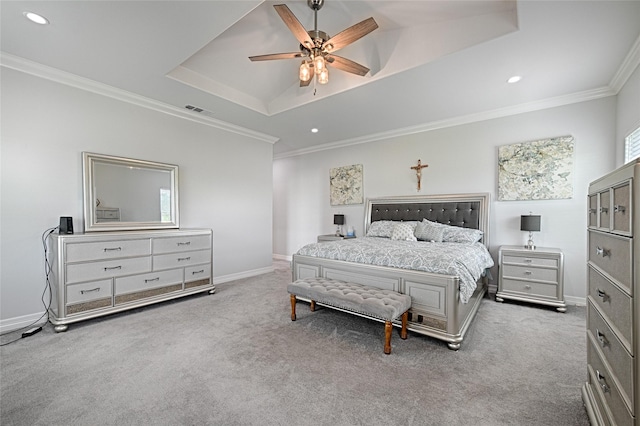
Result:
<svg viewBox="0 0 640 426"><path fill-rule="evenodd" d="M446 194L416 197L385 197L367 200L365 234L377 220L427 219L484 232L483 243L489 246L490 194Z"/></svg>

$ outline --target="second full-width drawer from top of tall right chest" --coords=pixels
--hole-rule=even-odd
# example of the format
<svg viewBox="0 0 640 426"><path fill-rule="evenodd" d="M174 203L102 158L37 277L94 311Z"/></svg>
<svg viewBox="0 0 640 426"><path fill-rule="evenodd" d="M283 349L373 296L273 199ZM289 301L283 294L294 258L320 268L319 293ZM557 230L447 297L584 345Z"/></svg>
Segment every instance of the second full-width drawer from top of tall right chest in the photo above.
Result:
<svg viewBox="0 0 640 426"><path fill-rule="evenodd" d="M631 348L633 348L633 301L631 297L613 285L591 265L588 267L588 274L588 299L598 306L600 312L607 317L614 332L618 334L623 345L631 352Z"/></svg>

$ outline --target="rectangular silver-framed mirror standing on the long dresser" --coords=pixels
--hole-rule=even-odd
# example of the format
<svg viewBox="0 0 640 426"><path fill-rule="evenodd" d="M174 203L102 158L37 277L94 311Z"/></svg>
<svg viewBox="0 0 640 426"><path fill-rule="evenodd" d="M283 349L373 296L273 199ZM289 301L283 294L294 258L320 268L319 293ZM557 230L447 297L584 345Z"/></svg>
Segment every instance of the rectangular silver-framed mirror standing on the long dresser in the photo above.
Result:
<svg viewBox="0 0 640 426"><path fill-rule="evenodd" d="M82 153L84 230L178 228L178 166Z"/></svg>

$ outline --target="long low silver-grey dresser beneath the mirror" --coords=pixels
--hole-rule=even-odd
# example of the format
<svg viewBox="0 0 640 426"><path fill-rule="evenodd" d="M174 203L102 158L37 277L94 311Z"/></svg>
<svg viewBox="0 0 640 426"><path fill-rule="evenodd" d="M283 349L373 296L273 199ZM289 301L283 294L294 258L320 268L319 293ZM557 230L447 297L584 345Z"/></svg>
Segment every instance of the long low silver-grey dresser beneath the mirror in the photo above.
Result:
<svg viewBox="0 0 640 426"><path fill-rule="evenodd" d="M51 234L47 241L56 331L68 324L208 291L210 229Z"/></svg>

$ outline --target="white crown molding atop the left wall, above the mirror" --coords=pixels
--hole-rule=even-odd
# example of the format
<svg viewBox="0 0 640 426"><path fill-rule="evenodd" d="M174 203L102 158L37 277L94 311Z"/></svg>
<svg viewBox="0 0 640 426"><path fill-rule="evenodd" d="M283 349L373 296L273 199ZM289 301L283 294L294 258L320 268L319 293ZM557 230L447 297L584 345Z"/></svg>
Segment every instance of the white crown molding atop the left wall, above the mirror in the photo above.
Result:
<svg viewBox="0 0 640 426"><path fill-rule="evenodd" d="M214 127L216 129L224 130L230 133L257 139L262 142L274 144L279 140L279 138L275 136L236 126L234 124L227 123L213 117L198 115L197 112L184 110L182 108L165 104L154 99L136 95L134 93L127 92L126 90L118 89L107 84L98 83L94 80L80 77L53 67L42 65L37 62L21 58L19 56L10 55L2 51L0 51L0 66L51 80L56 83L65 84L67 86L96 93L102 96L107 96L109 98L134 104L143 108L152 109L163 114L172 115L174 117L204 124L206 126Z"/></svg>

